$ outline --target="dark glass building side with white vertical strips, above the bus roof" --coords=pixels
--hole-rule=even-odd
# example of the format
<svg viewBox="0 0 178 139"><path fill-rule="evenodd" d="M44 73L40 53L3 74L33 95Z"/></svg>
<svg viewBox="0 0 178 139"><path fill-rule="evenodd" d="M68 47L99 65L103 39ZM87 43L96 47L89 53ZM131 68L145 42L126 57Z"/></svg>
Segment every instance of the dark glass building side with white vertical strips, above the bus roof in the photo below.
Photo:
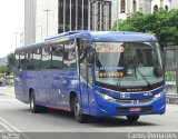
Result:
<svg viewBox="0 0 178 139"><path fill-rule="evenodd" d="M58 0L58 32L109 30L111 2L105 0Z"/></svg>

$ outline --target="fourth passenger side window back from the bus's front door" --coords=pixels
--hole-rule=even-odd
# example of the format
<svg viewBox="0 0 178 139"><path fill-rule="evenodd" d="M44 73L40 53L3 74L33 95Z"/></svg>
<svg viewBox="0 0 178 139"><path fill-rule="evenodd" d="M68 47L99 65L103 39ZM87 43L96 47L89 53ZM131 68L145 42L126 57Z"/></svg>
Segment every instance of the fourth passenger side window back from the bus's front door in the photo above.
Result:
<svg viewBox="0 0 178 139"><path fill-rule="evenodd" d="M33 50L33 69L41 69L41 49Z"/></svg>

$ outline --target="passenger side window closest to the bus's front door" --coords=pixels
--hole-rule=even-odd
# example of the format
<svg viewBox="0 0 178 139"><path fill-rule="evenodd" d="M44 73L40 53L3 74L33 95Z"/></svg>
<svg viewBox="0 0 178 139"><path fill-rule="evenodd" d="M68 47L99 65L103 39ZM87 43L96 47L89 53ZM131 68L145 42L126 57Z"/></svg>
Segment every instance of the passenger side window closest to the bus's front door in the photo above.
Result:
<svg viewBox="0 0 178 139"><path fill-rule="evenodd" d="M76 68L76 47L75 41L65 43L63 67Z"/></svg>

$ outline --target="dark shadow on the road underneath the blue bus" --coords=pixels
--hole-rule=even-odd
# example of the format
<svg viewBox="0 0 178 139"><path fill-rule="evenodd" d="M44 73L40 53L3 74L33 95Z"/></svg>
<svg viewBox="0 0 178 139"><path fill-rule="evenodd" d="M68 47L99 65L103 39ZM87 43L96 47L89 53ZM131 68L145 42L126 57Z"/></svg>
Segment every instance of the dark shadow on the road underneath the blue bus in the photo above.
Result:
<svg viewBox="0 0 178 139"><path fill-rule="evenodd" d="M29 110L30 112L30 110ZM73 115L68 111L62 110L53 110L49 109L47 113L40 113L43 116L50 116L51 118L58 118L61 120L68 120L70 122L76 122ZM87 121L85 122L86 126L96 126L96 127L142 127L142 126L159 126L151 122L145 122L138 120L137 122L129 122L126 117L103 117L103 118L97 118L97 117L88 117Z"/></svg>

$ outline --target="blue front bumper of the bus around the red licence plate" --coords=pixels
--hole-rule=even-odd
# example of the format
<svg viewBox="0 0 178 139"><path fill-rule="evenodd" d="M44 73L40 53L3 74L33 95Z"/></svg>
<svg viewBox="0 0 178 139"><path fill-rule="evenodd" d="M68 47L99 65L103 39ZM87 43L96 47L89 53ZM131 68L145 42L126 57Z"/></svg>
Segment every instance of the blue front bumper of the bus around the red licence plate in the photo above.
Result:
<svg viewBox="0 0 178 139"><path fill-rule="evenodd" d="M129 111L130 108L141 108L141 111ZM122 105L115 100L105 100L96 95L96 101L90 109L91 116L140 116L140 115L164 115L166 111L166 96L152 99L146 103Z"/></svg>

